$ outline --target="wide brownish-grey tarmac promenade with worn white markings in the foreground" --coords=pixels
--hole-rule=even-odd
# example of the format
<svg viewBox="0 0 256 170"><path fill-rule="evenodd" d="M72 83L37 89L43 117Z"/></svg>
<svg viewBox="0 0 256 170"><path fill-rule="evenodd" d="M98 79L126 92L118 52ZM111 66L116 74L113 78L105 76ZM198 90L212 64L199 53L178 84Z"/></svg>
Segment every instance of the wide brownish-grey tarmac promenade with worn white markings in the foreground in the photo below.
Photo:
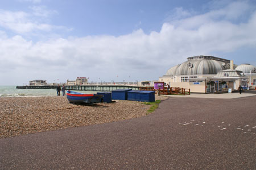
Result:
<svg viewBox="0 0 256 170"><path fill-rule="evenodd" d="M256 169L255 105L170 97L142 118L0 139L0 169Z"/></svg>

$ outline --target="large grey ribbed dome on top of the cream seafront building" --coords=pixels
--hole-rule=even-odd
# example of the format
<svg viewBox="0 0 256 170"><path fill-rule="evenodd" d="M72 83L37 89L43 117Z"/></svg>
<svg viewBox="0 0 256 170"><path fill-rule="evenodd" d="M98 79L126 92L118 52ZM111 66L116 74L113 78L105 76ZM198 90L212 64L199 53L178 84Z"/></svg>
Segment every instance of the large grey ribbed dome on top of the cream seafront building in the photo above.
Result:
<svg viewBox="0 0 256 170"><path fill-rule="evenodd" d="M166 75L217 74L230 68L229 60L213 56L188 57L188 61L170 68Z"/></svg>

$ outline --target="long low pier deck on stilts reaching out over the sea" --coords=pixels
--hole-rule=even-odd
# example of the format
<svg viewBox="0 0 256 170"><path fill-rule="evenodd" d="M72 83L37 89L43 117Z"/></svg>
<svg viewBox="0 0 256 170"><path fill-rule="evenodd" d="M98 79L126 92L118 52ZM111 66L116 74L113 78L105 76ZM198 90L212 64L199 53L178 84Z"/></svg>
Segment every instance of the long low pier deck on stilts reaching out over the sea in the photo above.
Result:
<svg viewBox="0 0 256 170"><path fill-rule="evenodd" d="M62 86L62 85L61 85ZM57 85L38 85L38 86L16 86L16 89L56 89ZM133 89L139 90L142 86L134 85L65 85L66 90L84 90L111 92L118 89Z"/></svg>

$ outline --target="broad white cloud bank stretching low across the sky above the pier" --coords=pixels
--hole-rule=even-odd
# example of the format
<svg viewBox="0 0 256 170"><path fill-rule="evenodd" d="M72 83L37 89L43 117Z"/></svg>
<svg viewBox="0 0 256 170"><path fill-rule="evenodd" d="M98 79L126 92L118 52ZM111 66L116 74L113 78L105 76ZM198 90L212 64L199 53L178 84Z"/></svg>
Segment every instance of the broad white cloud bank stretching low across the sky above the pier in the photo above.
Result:
<svg viewBox="0 0 256 170"><path fill-rule="evenodd" d="M230 14L241 16L240 11L247 7L230 6L164 23L160 32L148 35L140 29L122 36L56 38L32 43L22 36L8 38L0 32L0 72L6 73L0 79L11 84L32 79L65 81L79 76L90 77L89 81L98 77L122 81L129 76L131 80L157 80L186 57L234 52L243 47L255 49L256 11L250 13L246 22L233 23ZM26 14L18 16L23 15ZM216 15L222 19L216 19Z"/></svg>

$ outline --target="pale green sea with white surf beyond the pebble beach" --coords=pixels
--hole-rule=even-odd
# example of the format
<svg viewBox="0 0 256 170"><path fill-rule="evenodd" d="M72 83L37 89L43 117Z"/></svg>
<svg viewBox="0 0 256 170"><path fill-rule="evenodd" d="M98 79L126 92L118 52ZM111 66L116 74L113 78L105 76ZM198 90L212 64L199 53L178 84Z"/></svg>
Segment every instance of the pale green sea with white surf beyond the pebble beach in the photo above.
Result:
<svg viewBox="0 0 256 170"><path fill-rule="evenodd" d="M76 90L73 90L76 91ZM76 91L84 94L95 94L96 91ZM60 92L62 95L62 92ZM56 89L16 89L16 86L0 86L0 97L37 97L57 96Z"/></svg>

